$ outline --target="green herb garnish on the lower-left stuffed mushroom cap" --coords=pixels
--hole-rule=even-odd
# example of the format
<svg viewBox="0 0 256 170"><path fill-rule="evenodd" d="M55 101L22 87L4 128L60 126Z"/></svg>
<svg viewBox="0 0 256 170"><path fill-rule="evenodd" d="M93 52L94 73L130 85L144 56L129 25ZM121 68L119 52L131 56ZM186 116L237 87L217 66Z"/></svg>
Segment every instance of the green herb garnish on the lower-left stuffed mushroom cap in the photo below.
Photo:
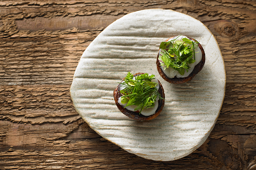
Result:
<svg viewBox="0 0 256 170"><path fill-rule="evenodd" d="M132 73L128 72L124 82L118 82L122 87L125 87L120 90L123 95L121 102L123 104L127 103L126 106L137 106L134 111L140 110L140 113L143 109L154 107L156 98L163 98L156 88L157 83L151 81L153 79L155 79L154 74L148 75L148 73L145 73L134 78Z"/></svg>

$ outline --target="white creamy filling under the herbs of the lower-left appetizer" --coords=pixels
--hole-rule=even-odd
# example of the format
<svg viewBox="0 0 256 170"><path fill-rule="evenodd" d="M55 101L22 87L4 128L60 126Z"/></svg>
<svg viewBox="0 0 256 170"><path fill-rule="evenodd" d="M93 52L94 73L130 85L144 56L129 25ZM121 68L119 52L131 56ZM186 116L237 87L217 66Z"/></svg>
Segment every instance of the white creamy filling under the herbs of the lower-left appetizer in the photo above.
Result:
<svg viewBox="0 0 256 170"><path fill-rule="evenodd" d="M134 77L133 79L135 79L135 77ZM152 82L156 82L156 83L157 83L156 88L159 89L158 80L157 80L157 79L153 79L153 80L151 80L151 81L152 81ZM120 86L120 87L119 87L119 90L123 90L124 88L125 88L125 87ZM121 97L118 98L118 103L119 103L121 106L123 106L123 107L125 107L126 104L127 104L127 103L123 104L123 103L121 102ZM131 105L131 106L125 107L125 109L134 112L134 109L135 109L136 107L137 107L136 105ZM158 97L156 98L155 106L154 106L154 107L150 107L150 108L143 109L143 110L140 112L140 114L142 114L142 115L144 115L144 116L153 115L153 114L156 113L157 107L158 107ZM139 111L140 111L140 110L139 110Z"/></svg>

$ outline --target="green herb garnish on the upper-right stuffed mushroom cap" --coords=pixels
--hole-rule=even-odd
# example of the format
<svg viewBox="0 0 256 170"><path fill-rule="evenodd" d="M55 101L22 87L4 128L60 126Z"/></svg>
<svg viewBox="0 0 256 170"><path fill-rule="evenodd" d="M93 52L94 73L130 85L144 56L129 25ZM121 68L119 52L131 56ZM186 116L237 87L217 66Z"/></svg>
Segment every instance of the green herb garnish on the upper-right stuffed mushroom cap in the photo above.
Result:
<svg viewBox="0 0 256 170"><path fill-rule="evenodd" d="M182 41L178 41L177 38L160 44L161 52L158 60L162 63L160 66L163 66L164 70L172 67L181 75L184 75L185 70L188 72L190 68L188 64L196 61L195 49L198 42L191 41L188 38L182 38Z"/></svg>

